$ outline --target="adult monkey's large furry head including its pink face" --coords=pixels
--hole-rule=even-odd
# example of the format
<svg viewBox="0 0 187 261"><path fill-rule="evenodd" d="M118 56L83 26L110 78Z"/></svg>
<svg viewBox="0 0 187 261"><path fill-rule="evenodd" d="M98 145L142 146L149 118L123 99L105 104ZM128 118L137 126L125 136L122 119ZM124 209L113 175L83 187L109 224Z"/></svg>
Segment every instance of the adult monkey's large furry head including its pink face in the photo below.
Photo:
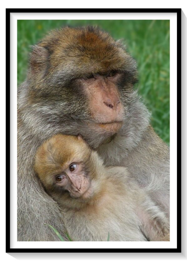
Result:
<svg viewBox="0 0 187 261"><path fill-rule="evenodd" d="M136 63L120 41L93 27L53 31L31 53L31 109L49 128L81 133L92 147L116 134L137 98ZM30 111L31 111L30 109ZM41 115L40 115L41 114Z"/></svg>

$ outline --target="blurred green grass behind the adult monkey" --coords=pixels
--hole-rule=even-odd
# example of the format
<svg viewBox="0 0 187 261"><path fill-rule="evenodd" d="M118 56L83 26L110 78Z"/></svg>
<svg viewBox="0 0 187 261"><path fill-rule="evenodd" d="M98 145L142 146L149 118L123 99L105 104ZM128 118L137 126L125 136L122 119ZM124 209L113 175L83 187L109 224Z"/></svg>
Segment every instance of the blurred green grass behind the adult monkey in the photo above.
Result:
<svg viewBox="0 0 187 261"><path fill-rule="evenodd" d="M98 25L114 39L123 39L136 59L139 83L135 86L151 111L151 124L170 143L170 21L169 20L18 20L17 84L25 80L30 46L51 29L65 25Z"/></svg>

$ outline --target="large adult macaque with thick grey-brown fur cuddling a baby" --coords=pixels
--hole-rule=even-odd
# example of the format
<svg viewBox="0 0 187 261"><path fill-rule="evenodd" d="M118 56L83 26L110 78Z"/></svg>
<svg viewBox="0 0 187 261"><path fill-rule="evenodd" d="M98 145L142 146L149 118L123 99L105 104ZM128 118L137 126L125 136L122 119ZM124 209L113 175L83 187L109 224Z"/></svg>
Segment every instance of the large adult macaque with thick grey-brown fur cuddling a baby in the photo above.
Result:
<svg viewBox="0 0 187 261"><path fill-rule="evenodd" d="M36 149L49 137L81 134L105 165L129 173L169 216L169 150L149 124L133 84L136 63L120 41L98 28L52 31L30 55L18 88L18 241L63 236L58 204L33 168Z"/></svg>

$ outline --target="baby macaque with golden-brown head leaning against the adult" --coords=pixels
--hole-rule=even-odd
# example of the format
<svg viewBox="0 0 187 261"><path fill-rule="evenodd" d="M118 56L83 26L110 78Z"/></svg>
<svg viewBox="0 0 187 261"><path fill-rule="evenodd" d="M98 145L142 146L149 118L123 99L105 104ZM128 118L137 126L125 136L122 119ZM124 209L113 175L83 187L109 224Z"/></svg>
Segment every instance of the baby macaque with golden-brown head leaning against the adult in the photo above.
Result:
<svg viewBox="0 0 187 261"><path fill-rule="evenodd" d="M129 177L105 167L81 136L55 135L37 150L35 170L62 209L73 241L169 241L169 221ZM56 224L58 230L58 224Z"/></svg>

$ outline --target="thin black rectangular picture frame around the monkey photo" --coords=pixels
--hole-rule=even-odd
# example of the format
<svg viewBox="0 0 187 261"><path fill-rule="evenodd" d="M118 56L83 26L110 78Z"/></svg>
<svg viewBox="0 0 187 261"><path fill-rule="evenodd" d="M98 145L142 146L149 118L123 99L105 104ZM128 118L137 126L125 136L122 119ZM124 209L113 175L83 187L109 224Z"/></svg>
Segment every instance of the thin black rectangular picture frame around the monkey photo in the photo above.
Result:
<svg viewBox="0 0 187 261"><path fill-rule="evenodd" d="M167 249L30 249L30 248L11 248L10 247L10 14L14 12L19 13L56 13L56 12L97 12L97 13L177 13L177 99L178 99L178 109L177 109L177 248L167 248ZM180 253L181 252L181 9L6 9L6 252L7 253L66 253L66 252L76 252L76 253Z"/></svg>

